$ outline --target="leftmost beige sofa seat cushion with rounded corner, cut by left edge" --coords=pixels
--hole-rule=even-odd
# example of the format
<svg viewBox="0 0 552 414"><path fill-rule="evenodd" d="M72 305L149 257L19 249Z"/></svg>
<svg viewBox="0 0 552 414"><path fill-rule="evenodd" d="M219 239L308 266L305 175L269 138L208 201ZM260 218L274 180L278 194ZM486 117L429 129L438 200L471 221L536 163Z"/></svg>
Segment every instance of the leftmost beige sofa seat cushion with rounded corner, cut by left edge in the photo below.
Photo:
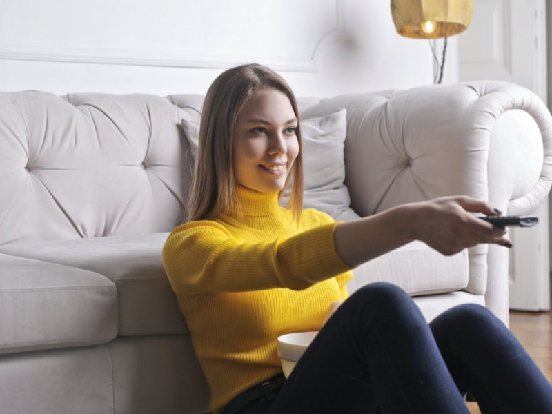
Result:
<svg viewBox="0 0 552 414"><path fill-rule="evenodd" d="M117 335L117 290L98 273L0 253L0 354Z"/></svg>

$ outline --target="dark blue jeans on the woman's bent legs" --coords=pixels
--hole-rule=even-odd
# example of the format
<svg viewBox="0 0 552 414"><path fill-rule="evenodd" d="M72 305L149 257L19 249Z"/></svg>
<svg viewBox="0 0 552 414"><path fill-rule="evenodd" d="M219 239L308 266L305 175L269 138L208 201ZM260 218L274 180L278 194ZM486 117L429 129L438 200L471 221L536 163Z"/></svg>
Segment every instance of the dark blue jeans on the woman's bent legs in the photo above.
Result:
<svg viewBox="0 0 552 414"><path fill-rule="evenodd" d="M428 325L403 290L375 283L339 307L259 412L467 414L468 391L484 414L552 413L552 386L486 308Z"/></svg>

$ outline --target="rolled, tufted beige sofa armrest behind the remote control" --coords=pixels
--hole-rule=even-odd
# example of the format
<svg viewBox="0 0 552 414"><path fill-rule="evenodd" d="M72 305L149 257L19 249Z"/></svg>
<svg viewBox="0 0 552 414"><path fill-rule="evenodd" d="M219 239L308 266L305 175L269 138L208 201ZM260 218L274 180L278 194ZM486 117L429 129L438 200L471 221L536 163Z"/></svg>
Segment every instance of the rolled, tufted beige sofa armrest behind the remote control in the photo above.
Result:
<svg viewBox="0 0 552 414"><path fill-rule="evenodd" d="M526 88L478 81L342 95L323 104L347 109L346 185L361 216L459 194L521 215L549 193L551 115ZM470 249L466 290L486 292L487 306L507 320L507 253L488 250Z"/></svg>

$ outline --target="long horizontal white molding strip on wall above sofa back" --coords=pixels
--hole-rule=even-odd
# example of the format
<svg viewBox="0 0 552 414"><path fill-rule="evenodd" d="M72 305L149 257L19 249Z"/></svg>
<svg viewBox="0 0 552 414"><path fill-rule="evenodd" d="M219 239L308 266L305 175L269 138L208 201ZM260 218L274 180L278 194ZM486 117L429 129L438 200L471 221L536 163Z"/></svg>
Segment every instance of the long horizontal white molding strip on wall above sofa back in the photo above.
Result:
<svg viewBox="0 0 552 414"><path fill-rule="evenodd" d="M226 69L241 63L258 62L282 72L319 72L319 66L313 58L292 60L266 59L254 56L203 57L138 52L136 50L68 48L14 43L0 43L0 59L208 69Z"/></svg>

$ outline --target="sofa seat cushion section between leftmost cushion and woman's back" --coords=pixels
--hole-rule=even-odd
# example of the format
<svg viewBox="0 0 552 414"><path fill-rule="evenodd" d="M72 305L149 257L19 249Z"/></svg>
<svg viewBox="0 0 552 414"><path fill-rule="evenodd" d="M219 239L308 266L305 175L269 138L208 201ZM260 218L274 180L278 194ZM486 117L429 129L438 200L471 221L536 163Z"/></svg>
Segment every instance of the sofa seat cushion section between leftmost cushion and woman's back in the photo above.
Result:
<svg viewBox="0 0 552 414"><path fill-rule="evenodd" d="M168 233L51 240L0 251L91 270L117 286L119 335L189 333L161 260Z"/></svg>

